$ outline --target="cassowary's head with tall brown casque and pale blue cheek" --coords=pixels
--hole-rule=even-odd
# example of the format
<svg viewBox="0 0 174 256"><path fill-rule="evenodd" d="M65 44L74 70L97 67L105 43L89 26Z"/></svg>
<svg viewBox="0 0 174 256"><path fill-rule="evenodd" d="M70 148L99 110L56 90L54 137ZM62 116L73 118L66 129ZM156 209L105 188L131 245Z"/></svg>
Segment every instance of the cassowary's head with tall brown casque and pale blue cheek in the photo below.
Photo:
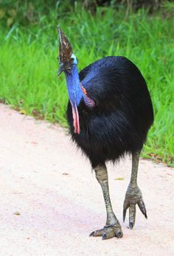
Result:
<svg viewBox="0 0 174 256"><path fill-rule="evenodd" d="M72 52L72 45L70 44L69 39L63 33L63 31L60 30L60 27L58 27L58 33L60 40L58 75L60 75L60 73L63 71L70 73L74 66L77 65L77 58Z"/></svg>

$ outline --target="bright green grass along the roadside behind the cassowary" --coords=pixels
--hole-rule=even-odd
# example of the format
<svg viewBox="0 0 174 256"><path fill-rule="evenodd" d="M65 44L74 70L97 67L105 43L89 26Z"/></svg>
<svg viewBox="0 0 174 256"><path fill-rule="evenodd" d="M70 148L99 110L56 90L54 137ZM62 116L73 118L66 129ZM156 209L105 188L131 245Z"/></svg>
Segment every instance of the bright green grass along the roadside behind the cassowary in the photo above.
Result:
<svg viewBox="0 0 174 256"><path fill-rule="evenodd" d="M79 69L106 55L130 58L147 80L155 122L143 156L174 166L174 20L145 10L127 18L123 11L98 8L52 12L39 24L0 30L0 100L13 108L66 125L65 78L57 77L56 25L69 36ZM50 22L51 21L51 22Z"/></svg>

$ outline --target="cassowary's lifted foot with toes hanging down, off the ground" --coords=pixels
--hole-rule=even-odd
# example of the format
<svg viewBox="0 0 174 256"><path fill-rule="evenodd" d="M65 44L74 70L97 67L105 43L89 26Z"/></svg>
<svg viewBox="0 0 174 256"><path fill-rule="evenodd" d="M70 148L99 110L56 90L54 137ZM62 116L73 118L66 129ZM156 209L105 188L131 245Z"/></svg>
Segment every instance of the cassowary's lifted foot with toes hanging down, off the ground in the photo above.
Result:
<svg viewBox="0 0 174 256"><path fill-rule="evenodd" d="M126 210L129 208L129 226L133 229L136 221L136 204L138 204L139 209L142 214L147 218L147 212L145 209L145 203L142 199L142 192L138 186L133 187L131 184L128 186L128 190L125 194L125 201L123 204L123 221L125 222Z"/></svg>

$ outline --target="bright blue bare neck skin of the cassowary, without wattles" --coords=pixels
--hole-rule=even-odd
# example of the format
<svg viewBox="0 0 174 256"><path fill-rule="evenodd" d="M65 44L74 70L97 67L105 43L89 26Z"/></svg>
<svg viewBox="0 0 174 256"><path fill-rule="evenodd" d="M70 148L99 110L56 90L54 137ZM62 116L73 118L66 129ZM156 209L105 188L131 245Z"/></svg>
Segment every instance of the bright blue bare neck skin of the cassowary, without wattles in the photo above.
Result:
<svg viewBox="0 0 174 256"><path fill-rule="evenodd" d="M72 103L72 106L79 105L80 100L83 97L83 91L80 86L80 78L76 65L73 65L71 73L66 72L66 85L69 91L69 100Z"/></svg>

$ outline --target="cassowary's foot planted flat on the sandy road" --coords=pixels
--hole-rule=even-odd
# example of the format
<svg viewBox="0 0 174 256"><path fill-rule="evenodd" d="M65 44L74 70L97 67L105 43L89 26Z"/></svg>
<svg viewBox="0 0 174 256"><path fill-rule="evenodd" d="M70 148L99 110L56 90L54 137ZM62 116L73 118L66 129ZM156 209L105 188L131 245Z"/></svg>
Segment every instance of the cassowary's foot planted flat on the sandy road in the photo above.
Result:
<svg viewBox="0 0 174 256"><path fill-rule="evenodd" d="M89 236L102 236L102 240L105 240L114 237L122 238L122 235L122 227L117 223L116 225L107 225L102 229L95 230Z"/></svg>

